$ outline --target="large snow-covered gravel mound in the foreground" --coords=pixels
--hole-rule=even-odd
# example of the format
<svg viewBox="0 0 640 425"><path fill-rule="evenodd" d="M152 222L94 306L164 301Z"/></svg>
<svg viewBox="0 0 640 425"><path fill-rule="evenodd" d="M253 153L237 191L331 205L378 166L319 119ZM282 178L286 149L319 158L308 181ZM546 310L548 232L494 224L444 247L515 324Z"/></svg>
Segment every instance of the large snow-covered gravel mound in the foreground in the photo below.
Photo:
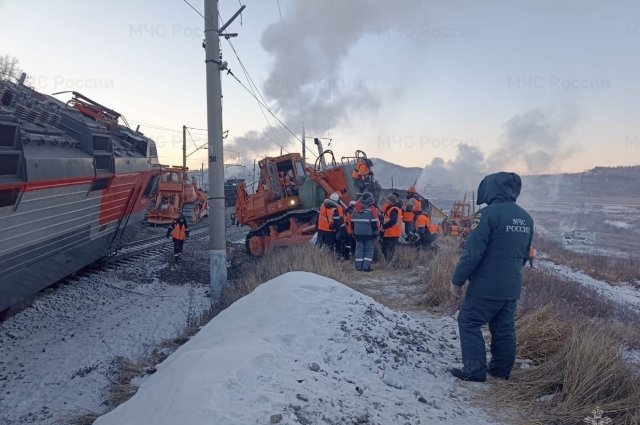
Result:
<svg viewBox="0 0 640 425"><path fill-rule="evenodd" d="M452 318L412 318L287 273L220 313L95 425L488 424L469 404ZM454 344L455 343L455 344Z"/></svg>

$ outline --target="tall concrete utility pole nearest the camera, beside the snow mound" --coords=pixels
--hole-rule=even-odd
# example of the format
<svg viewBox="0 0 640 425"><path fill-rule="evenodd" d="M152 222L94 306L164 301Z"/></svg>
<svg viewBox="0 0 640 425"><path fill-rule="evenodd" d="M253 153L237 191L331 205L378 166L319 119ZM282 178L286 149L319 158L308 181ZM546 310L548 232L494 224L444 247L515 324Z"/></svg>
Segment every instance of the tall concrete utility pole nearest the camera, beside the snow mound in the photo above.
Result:
<svg viewBox="0 0 640 425"><path fill-rule="evenodd" d="M216 302L227 283L227 244L222 149L222 86L218 0L204 1L205 63L207 70L207 130L209 142L209 279Z"/></svg>

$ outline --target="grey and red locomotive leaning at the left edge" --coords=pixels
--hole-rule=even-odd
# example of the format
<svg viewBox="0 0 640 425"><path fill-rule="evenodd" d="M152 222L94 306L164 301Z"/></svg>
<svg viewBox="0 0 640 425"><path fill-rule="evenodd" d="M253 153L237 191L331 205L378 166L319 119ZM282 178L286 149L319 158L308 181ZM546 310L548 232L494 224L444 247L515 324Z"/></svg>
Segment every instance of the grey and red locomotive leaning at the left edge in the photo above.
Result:
<svg viewBox="0 0 640 425"><path fill-rule="evenodd" d="M155 143L112 109L0 81L0 311L130 242Z"/></svg>

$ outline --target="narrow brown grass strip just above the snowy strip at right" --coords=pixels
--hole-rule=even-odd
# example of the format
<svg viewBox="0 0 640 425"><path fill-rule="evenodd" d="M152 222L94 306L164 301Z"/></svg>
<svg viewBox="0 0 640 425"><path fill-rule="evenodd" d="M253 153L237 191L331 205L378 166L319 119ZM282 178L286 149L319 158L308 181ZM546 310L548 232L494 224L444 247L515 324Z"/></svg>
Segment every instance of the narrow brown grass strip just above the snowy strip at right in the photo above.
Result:
<svg viewBox="0 0 640 425"><path fill-rule="evenodd" d="M549 259L568 265L591 277L605 282L634 282L640 280L640 258L631 254L627 258L609 257L586 253L576 253L542 236L536 237L536 249L544 252Z"/></svg>

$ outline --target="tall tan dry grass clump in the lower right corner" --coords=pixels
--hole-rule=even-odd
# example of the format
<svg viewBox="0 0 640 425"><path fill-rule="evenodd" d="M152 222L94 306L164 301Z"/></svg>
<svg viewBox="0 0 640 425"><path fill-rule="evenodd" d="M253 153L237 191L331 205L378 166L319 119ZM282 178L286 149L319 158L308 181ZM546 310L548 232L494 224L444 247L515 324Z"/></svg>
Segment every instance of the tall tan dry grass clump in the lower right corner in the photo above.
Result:
<svg viewBox="0 0 640 425"><path fill-rule="evenodd" d="M610 329L588 322L568 325L560 317L543 307L518 320L519 351L539 363L514 371L511 381L498 385L500 403L524 408L526 423L576 424L600 406L616 424L638 424L640 375L621 358ZM542 320L538 329L536 320ZM544 348L536 347L536 341Z"/></svg>

